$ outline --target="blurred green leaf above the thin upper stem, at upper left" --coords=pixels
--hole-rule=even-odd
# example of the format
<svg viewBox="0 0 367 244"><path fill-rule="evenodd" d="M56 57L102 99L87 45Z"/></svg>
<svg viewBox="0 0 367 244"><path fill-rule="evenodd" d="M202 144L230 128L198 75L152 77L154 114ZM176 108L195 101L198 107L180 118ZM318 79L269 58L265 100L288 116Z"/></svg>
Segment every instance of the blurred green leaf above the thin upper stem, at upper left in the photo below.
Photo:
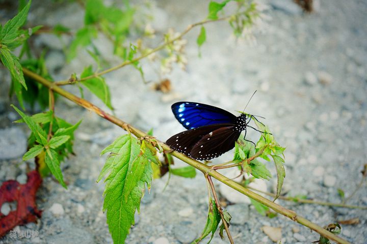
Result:
<svg viewBox="0 0 367 244"><path fill-rule="evenodd" d="M80 47L86 47L91 44L92 39L98 35L97 29L94 26L86 26L79 29L75 34L75 39L71 42L66 55L67 62L70 62L76 56L76 52Z"/></svg>

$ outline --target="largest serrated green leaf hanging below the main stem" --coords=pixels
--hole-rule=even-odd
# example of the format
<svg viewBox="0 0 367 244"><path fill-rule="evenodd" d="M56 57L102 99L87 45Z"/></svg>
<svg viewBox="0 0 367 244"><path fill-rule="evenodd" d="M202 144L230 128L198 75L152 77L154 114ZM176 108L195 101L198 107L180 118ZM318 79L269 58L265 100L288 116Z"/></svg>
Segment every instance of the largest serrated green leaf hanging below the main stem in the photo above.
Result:
<svg viewBox="0 0 367 244"><path fill-rule="evenodd" d="M130 226L134 225L135 211L139 212L145 185L150 188L153 171L146 157L147 150L150 149L141 149L135 137L123 135L101 153L110 153L97 181L109 172L103 211L107 210L107 224L114 243L124 243Z"/></svg>

